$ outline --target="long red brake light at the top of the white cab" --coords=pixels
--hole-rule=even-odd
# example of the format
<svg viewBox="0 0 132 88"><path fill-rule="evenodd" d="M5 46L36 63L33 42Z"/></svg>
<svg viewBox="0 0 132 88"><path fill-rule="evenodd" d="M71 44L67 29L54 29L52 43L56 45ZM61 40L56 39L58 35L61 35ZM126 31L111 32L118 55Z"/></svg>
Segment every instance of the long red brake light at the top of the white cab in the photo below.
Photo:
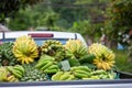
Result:
<svg viewBox="0 0 132 88"><path fill-rule="evenodd" d="M29 33L32 37L53 37L52 33Z"/></svg>

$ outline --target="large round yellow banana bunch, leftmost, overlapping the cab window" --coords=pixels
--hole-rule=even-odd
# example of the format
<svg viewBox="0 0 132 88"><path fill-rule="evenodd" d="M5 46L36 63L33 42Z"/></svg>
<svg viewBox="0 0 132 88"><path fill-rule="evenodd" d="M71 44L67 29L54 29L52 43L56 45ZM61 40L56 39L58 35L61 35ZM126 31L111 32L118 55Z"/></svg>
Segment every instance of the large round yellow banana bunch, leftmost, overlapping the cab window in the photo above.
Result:
<svg viewBox="0 0 132 88"><path fill-rule="evenodd" d="M14 42L13 54L22 64L32 63L38 56L37 45L31 36L20 36Z"/></svg>

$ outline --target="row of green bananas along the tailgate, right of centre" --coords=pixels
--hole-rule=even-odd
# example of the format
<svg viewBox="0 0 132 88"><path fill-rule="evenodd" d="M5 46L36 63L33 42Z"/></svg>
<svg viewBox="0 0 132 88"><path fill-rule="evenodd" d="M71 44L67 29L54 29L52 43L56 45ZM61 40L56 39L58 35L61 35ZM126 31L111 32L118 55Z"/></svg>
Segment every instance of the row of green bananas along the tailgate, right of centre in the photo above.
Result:
<svg viewBox="0 0 132 88"><path fill-rule="evenodd" d="M52 80L78 80L78 79L114 79L116 73L103 69L91 70L87 66L72 67L69 72L58 72L52 76Z"/></svg>

